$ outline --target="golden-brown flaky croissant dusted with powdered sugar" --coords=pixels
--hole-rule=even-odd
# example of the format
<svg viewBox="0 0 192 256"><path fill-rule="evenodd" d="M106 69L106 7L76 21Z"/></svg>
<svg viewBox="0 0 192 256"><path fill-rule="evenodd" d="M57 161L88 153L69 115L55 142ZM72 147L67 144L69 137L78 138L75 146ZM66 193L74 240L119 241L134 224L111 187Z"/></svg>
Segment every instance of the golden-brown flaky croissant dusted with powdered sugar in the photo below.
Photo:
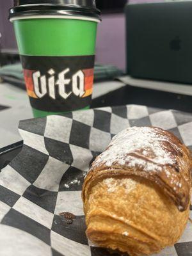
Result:
<svg viewBox="0 0 192 256"><path fill-rule="evenodd" d="M84 179L88 239L130 256L172 246L189 218L191 168L189 149L168 131L117 134Z"/></svg>

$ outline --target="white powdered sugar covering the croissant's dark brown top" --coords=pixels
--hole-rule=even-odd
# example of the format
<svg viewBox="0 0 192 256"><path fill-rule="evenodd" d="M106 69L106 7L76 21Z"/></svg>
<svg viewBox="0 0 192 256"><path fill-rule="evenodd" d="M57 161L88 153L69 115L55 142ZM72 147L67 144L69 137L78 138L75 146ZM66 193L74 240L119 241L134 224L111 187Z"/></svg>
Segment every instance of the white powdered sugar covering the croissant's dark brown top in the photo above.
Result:
<svg viewBox="0 0 192 256"><path fill-rule="evenodd" d="M113 137L108 149L97 157L93 166L105 163L111 167L117 163L141 167L147 172L161 171L163 164L175 164L175 157L164 147L166 143L177 147L154 127L131 127Z"/></svg>

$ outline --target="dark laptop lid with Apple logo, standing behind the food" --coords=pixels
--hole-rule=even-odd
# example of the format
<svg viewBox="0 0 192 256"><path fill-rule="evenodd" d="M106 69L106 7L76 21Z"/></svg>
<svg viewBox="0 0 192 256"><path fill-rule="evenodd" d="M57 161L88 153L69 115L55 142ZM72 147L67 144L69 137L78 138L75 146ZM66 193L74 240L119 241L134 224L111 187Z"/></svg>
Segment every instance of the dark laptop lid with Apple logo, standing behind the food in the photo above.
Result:
<svg viewBox="0 0 192 256"><path fill-rule="evenodd" d="M192 2L127 4L127 74L192 83Z"/></svg>

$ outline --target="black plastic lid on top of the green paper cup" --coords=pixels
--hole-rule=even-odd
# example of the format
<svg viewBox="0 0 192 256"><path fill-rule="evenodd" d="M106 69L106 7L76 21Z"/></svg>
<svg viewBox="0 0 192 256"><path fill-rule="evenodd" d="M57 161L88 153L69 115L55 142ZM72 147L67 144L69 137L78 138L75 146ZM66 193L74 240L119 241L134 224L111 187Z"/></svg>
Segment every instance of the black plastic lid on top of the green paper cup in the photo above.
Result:
<svg viewBox="0 0 192 256"><path fill-rule="evenodd" d="M9 18L33 15L75 15L100 20L95 0L15 0Z"/></svg>

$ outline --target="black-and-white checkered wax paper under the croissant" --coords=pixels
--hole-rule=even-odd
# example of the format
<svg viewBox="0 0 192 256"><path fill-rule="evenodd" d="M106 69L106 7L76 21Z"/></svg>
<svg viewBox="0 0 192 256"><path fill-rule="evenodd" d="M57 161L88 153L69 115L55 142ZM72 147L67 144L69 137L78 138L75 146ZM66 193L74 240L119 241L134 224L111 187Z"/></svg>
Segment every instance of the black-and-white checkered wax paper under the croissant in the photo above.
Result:
<svg viewBox="0 0 192 256"><path fill-rule="evenodd" d="M143 125L171 131L192 148L192 115L146 106L90 109L20 122L24 146L0 173L0 255L111 255L85 235L81 187L90 163L113 135ZM61 212L72 212L73 223ZM159 255L192 255L190 222L179 242Z"/></svg>

